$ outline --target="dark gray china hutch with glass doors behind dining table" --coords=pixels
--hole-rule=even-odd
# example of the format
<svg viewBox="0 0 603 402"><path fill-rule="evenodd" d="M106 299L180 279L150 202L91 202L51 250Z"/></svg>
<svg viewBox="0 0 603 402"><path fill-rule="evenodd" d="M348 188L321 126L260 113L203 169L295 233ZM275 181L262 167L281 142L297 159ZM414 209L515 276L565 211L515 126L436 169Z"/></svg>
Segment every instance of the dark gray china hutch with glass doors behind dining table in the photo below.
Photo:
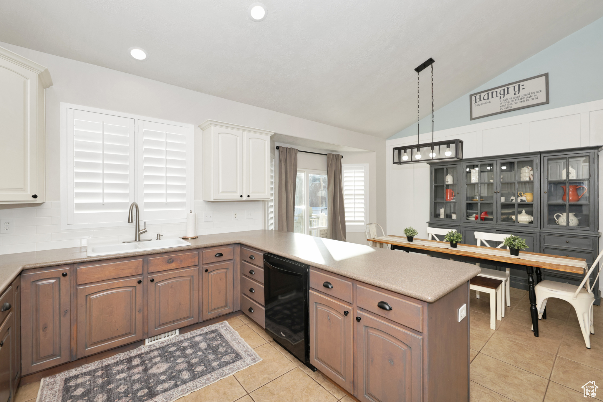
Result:
<svg viewBox="0 0 603 402"><path fill-rule="evenodd" d="M475 231L515 234L526 239L526 251L583 258L590 266L599 250L600 149L587 146L428 162L428 224L456 229L468 244L476 244ZM576 285L582 278L543 272L543 279ZM528 289L524 271L511 269L511 286ZM601 303L598 294L595 303Z"/></svg>

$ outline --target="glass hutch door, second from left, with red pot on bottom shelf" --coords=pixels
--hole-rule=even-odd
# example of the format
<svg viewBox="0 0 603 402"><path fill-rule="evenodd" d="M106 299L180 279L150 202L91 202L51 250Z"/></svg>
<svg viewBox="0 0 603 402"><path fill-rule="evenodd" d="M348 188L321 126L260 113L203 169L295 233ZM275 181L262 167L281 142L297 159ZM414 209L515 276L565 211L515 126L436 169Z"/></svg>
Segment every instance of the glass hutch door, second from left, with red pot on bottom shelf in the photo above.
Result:
<svg viewBox="0 0 603 402"><path fill-rule="evenodd" d="M495 162L463 165L465 174L463 222L494 223L496 204L494 193Z"/></svg>

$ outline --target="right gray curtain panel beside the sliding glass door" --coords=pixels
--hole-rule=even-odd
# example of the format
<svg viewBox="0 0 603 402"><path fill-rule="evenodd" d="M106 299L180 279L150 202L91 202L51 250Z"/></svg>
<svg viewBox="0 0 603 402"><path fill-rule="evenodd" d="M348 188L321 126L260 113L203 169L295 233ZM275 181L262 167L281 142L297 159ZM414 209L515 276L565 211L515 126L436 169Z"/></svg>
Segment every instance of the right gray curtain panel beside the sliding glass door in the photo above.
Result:
<svg viewBox="0 0 603 402"><path fill-rule="evenodd" d="M346 210L341 175L341 155L327 154L327 237L345 242Z"/></svg>

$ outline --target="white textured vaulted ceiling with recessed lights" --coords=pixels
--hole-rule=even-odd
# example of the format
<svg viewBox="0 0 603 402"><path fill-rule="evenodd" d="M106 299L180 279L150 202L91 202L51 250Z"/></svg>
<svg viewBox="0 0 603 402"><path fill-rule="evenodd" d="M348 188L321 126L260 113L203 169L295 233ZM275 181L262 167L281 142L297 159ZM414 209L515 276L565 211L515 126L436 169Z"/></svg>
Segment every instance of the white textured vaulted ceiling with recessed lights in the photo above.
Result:
<svg viewBox="0 0 603 402"><path fill-rule="evenodd" d="M427 58L438 108L603 16L601 0L264 0L253 22L254 1L0 0L0 41L387 138L415 121Z"/></svg>

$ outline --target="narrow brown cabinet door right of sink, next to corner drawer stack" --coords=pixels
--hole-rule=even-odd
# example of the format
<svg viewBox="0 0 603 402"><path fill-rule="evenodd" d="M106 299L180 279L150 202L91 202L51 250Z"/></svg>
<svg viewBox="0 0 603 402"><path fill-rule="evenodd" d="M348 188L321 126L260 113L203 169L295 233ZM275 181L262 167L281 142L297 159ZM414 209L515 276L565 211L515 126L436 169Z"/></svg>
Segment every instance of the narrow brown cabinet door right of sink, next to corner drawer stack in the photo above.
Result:
<svg viewBox="0 0 603 402"><path fill-rule="evenodd" d="M203 266L204 320L233 311L233 286L232 261Z"/></svg>

